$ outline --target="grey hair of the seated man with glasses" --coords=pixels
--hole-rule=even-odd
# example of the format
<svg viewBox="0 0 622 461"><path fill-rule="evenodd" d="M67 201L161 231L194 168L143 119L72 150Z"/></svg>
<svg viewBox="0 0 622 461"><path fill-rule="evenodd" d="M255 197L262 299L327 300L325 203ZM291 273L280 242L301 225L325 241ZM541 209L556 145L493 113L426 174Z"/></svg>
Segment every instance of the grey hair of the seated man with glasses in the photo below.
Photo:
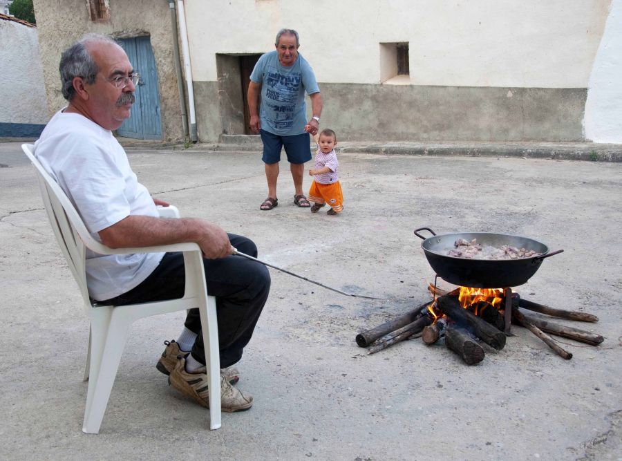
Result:
<svg viewBox="0 0 622 461"><path fill-rule="evenodd" d="M88 84L95 82L95 75L100 71L100 68L95 64L95 60L88 53L86 46L96 42L117 45L117 42L108 35L86 34L82 39L64 50L61 55L58 70L61 75L63 97L68 101L71 101L75 96L75 88L73 88L75 77L82 77L84 82Z"/></svg>

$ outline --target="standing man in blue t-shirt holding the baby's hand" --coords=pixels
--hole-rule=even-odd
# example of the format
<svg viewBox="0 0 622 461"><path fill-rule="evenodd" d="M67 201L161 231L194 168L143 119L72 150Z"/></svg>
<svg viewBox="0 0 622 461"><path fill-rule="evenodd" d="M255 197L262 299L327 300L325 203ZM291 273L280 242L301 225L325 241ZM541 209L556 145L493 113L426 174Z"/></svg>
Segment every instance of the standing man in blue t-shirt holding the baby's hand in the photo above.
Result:
<svg viewBox="0 0 622 461"><path fill-rule="evenodd" d="M305 162L311 160L309 133L315 135L322 113L322 97L313 69L298 53L298 32L281 29L274 42L276 50L262 55L250 76L248 108L250 128L261 135L263 162L268 185L268 196L259 207L276 207L276 179L279 177L281 148L290 162L294 178L294 203L310 207L303 194ZM311 98L312 117L306 120L305 93ZM261 95L261 117L260 109ZM305 125L310 128L305 130Z"/></svg>

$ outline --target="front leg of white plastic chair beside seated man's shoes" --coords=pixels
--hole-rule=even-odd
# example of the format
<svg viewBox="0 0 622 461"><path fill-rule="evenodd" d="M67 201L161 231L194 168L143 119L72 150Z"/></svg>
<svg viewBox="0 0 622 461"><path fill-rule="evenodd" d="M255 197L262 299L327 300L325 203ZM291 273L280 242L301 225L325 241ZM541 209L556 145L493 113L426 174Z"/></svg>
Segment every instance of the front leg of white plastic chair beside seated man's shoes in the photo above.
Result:
<svg viewBox="0 0 622 461"><path fill-rule="evenodd" d="M201 309L202 310L202 309ZM204 315L207 314L207 315ZM216 323L216 298L207 297L206 312L201 312L201 330L205 346L205 366L209 373L209 429L220 428L220 355L218 351L218 323ZM217 392L213 390L217 389Z"/></svg>

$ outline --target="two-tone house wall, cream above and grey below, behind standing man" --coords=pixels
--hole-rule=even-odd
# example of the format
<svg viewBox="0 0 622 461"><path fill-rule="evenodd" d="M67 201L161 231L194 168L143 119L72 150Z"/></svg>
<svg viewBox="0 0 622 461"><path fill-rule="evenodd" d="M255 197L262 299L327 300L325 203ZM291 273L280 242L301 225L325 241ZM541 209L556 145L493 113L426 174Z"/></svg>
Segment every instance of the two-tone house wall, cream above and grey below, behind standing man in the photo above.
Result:
<svg viewBox="0 0 622 461"><path fill-rule="evenodd" d="M322 126L350 140L560 141L583 139L585 94L610 0L185 5L193 80L204 91L218 79L217 53L272 50L276 31L288 27L299 31L300 52L323 93ZM403 41L410 75L400 85L380 84L380 44ZM196 98L198 119L222 110L218 88L212 91ZM227 117L216 126L204 120L201 140L229 132L235 124Z"/></svg>

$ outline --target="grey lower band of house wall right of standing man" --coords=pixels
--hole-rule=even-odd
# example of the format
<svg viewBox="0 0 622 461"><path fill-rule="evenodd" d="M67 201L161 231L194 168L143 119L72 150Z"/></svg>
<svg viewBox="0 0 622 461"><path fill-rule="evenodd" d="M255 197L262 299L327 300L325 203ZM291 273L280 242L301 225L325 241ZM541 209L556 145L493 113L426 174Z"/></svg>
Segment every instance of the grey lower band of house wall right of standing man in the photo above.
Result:
<svg viewBox="0 0 622 461"><path fill-rule="evenodd" d="M321 91L321 126L341 140L582 138L585 88L321 84Z"/></svg>

